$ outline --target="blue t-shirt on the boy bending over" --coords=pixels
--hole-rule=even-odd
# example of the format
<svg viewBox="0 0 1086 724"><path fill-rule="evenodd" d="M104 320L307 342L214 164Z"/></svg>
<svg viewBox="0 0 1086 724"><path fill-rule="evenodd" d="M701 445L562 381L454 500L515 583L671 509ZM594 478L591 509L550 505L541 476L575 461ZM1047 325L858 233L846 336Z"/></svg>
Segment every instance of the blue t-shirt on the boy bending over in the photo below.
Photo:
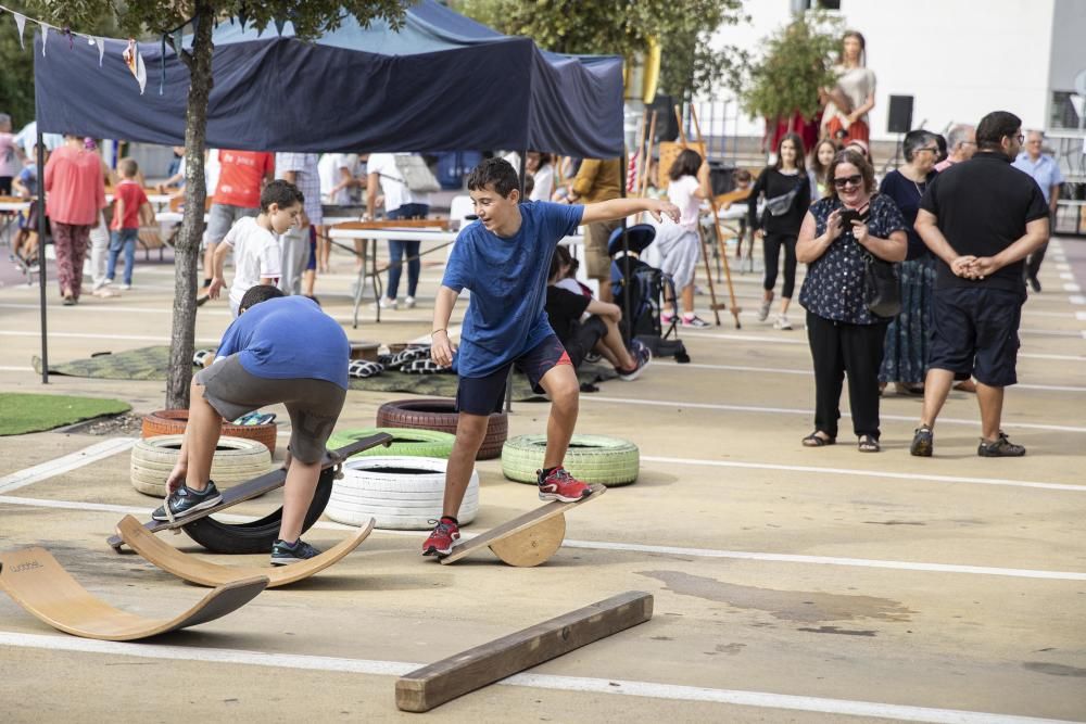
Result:
<svg viewBox="0 0 1086 724"><path fill-rule="evenodd" d="M245 371L267 380L327 380L348 389L351 345L339 322L304 296L255 304L227 328L215 353L237 354Z"/></svg>

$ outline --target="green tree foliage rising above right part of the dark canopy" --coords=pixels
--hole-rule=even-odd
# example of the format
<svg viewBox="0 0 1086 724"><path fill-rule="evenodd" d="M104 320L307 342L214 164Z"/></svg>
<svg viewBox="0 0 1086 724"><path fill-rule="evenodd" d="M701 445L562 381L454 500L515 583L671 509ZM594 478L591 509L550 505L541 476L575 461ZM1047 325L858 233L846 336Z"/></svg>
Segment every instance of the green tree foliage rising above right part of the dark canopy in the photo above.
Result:
<svg viewBox="0 0 1086 724"><path fill-rule="evenodd" d="M455 0L458 12L506 35L532 38L558 53L622 55L644 52L657 38L662 51L659 89L677 97L712 89L744 58L712 50L709 38L744 20L743 0Z"/></svg>

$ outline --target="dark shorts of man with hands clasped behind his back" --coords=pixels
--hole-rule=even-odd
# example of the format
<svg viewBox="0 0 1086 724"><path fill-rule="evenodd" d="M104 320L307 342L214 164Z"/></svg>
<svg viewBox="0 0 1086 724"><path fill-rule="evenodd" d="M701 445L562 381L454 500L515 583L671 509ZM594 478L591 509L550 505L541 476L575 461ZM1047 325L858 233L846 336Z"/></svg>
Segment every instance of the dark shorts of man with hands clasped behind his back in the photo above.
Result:
<svg viewBox="0 0 1086 724"><path fill-rule="evenodd" d="M1022 297L1005 289L951 287L935 291L927 366L992 388L1018 382Z"/></svg>

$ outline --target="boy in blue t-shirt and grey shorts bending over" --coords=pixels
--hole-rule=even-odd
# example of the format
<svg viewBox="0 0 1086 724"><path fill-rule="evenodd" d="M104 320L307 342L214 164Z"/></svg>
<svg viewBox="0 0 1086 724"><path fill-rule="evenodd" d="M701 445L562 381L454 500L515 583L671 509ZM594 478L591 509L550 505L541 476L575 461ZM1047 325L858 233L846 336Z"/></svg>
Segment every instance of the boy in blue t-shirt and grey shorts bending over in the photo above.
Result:
<svg viewBox="0 0 1086 724"><path fill-rule="evenodd" d="M291 433L282 523L272 564L285 566L320 552L300 536L325 443L346 398L351 345L343 328L316 302L285 297L276 287L253 287L240 310L223 335L215 363L192 378L185 442L166 480L171 494L151 517L184 518L218 505L223 496L211 480L211 466L223 418L233 420L282 403Z"/></svg>

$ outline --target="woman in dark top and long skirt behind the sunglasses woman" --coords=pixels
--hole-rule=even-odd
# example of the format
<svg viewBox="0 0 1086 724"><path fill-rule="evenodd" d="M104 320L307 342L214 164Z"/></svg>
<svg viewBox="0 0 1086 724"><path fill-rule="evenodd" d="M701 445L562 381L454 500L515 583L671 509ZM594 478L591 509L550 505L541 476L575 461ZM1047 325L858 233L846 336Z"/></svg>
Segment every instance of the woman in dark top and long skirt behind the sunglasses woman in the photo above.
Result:
<svg viewBox="0 0 1086 724"><path fill-rule="evenodd" d="M935 293L935 259L912 225L920 200L935 178L939 158L938 139L926 130L911 130L904 141L905 165L886 174L879 191L897 204L907 225L909 247L906 261L897 266L901 290L901 314L886 329L886 352L879 370L880 388L893 382L898 394L924 394L927 342L932 328Z"/></svg>

